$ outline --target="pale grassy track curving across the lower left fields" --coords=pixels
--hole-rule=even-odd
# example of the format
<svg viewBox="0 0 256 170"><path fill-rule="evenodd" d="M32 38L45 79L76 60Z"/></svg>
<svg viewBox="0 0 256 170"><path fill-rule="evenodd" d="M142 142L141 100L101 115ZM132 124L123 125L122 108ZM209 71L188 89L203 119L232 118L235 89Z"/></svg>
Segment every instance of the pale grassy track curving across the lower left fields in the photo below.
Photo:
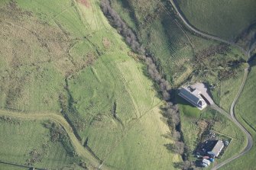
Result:
<svg viewBox="0 0 256 170"><path fill-rule="evenodd" d="M99 167L100 162L92 153L89 152L76 138L76 135L73 133L72 127L66 121L66 119L61 116L60 114L56 113L21 113L18 111L8 111L0 109L0 116L7 116L7 117L16 117L22 119L32 119L32 120L53 120L56 123L60 123L63 129L66 131L67 135L70 137L71 142L73 143L74 148L76 149L76 153L83 157L85 160L89 160L89 163L94 167ZM102 169L107 169L105 165L100 165Z"/></svg>

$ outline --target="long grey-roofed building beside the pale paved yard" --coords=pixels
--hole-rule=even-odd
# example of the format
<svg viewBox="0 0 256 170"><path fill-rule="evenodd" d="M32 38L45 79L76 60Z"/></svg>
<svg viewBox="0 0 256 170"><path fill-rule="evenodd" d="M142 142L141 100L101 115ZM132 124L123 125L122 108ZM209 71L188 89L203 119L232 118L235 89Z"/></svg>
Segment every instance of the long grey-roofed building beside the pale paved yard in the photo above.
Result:
<svg viewBox="0 0 256 170"><path fill-rule="evenodd" d="M199 108L199 110L203 110L207 106L206 101L201 96L201 91L196 88L191 88L190 86L182 87L179 95Z"/></svg>

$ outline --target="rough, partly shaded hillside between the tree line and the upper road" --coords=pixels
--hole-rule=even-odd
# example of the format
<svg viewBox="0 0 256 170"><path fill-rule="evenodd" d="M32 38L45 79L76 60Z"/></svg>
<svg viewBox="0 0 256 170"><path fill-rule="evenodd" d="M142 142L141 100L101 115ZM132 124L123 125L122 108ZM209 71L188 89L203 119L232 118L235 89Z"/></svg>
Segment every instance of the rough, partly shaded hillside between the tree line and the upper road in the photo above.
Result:
<svg viewBox="0 0 256 170"><path fill-rule="evenodd" d="M137 33L147 51L154 56L160 72L173 87L191 79L215 84L221 79L222 72L235 70L231 71L227 63L245 58L234 47L191 34L178 23L168 2L111 2L115 11L118 11Z"/></svg>

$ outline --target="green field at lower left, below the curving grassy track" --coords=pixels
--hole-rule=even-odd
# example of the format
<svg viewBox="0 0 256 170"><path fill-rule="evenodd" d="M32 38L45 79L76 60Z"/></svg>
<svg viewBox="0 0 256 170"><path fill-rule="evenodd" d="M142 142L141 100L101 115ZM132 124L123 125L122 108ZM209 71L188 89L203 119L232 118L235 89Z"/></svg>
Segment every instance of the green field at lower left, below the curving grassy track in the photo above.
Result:
<svg viewBox="0 0 256 170"><path fill-rule="evenodd" d="M6 117L5 117L6 118ZM79 162L66 152L63 144L50 139L50 130L44 127L43 121L18 120L1 117L0 149L1 161L18 165L34 165L37 168L72 168L73 162ZM65 134L66 136L66 134ZM35 162L33 163L33 160ZM14 169L13 166L2 165L2 169ZM76 166L76 168L79 168Z"/></svg>

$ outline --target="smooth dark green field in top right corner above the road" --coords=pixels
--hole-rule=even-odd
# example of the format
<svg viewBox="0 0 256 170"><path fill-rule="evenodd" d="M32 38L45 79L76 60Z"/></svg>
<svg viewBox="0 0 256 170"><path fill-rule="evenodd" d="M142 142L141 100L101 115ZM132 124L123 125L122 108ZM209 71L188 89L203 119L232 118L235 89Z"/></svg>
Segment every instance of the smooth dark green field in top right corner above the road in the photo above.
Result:
<svg viewBox="0 0 256 170"><path fill-rule="evenodd" d="M238 35L256 22L254 0L177 0L177 3L194 27L226 40L235 40Z"/></svg>

